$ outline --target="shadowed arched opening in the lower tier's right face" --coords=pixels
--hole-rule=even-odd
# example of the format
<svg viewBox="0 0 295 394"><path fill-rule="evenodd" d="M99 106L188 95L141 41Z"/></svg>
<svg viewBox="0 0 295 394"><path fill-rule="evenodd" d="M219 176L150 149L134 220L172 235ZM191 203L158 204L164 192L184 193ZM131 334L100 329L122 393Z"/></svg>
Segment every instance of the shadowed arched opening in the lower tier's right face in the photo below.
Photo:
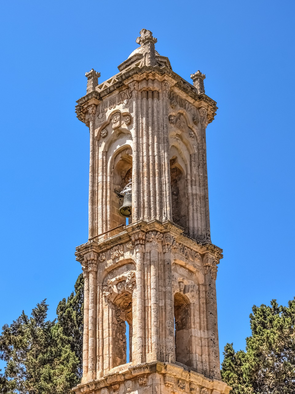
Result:
<svg viewBox="0 0 295 394"><path fill-rule="evenodd" d="M190 302L184 294L174 296L175 359L192 366L192 342L190 332Z"/></svg>

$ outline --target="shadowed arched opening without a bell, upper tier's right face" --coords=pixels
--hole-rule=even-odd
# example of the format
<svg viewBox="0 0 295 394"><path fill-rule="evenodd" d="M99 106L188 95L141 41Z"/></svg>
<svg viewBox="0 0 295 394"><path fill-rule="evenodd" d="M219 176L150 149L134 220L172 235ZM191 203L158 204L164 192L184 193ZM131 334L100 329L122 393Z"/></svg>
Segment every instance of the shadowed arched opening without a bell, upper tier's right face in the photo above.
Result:
<svg viewBox="0 0 295 394"><path fill-rule="evenodd" d="M177 157L170 160L171 203L173 222L188 233L188 200L186 195L186 179L184 171L177 162Z"/></svg>

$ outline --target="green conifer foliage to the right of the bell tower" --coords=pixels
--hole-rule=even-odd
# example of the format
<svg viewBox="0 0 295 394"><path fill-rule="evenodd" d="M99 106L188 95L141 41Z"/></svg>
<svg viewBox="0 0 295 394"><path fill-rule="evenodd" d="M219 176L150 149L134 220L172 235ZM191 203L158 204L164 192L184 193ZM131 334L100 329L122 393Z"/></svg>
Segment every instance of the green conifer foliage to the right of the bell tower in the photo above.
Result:
<svg viewBox="0 0 295 394"><path fill-rule="evenodd" d="M235 352L227 344L221 377L232 386L232 394L291 394L295 392L295 299L288 307L253 306L252 335L246 352Z"/></svg>

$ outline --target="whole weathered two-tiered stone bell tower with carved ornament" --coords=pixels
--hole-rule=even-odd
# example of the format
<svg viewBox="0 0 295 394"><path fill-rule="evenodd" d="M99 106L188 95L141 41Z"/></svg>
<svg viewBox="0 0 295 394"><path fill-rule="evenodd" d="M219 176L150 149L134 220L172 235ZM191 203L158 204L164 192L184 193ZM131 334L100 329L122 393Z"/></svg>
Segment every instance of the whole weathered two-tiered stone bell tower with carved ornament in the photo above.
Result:
<svg viewBox="0 0 295 394"><path fill-rule="evenodd" d="M216 102L205 95L205 75L186 82L156 42L143 29L118 74L98 83L100 73L86 73L77 101L90 169L89 240L76 249L85 278L76 394L230 390L219 370L222 250L210 240L206 170Z"/></svg>

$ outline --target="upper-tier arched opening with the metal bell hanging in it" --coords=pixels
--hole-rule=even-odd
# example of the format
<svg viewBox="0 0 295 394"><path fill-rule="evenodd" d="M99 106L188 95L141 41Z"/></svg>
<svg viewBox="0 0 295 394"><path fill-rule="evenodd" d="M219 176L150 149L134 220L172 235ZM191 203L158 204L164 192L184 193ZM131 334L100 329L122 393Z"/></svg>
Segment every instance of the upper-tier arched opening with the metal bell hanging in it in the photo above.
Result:
<svg viewBox="0 0 295 394"><path fill-rule="evenodd" d="M131 217L125 218L119 214L119 208L122 206L124 199L119 193L132 179L132 150L131 147L125 147L114 158L112 166L111 182L111 229L120 224L130 224ZM118 229L117 232L122 231Z"/></svg>

